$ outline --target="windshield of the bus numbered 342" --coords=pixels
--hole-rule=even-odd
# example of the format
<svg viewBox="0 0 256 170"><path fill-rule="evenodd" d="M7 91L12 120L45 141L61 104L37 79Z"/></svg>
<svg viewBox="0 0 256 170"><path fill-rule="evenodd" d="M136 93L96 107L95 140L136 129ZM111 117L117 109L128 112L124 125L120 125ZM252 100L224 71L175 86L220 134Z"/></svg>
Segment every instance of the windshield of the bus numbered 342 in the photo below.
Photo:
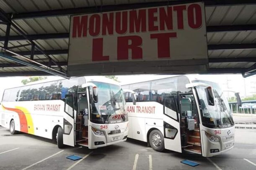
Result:
<svg viewBox="0 0 256 170"><path fill-rule="evenodd" d="M212 87L214 93L215 105L208 105L205 87L197 86L197 94L202 108L202 124L208 128L228 128L234 125L228 100L224 96L220 86L217 83L194 80L192 82L203 82Z"/></svg>

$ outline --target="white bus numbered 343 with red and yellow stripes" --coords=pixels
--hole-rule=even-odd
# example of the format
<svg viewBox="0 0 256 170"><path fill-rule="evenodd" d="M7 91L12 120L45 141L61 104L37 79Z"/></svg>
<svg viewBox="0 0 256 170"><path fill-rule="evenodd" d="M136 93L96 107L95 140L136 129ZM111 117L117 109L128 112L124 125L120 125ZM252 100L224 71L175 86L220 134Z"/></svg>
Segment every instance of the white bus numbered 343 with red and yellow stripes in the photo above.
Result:
<svg viewBox="0 0 256 170"><path fill-rule="evenodd" d="M128 117L124 95L106 77L75 77L6 89L0 105L0 125L90 149L125 141Z"/></svg>

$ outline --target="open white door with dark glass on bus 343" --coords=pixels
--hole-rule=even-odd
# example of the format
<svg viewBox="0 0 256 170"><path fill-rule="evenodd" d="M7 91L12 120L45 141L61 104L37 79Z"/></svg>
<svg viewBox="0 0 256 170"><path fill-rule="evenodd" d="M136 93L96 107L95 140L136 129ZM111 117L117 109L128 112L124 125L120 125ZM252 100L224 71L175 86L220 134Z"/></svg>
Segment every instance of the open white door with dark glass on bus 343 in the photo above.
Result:
<svg viewBox="0 0 256 170"><path fill-rule="evenodd" d="M65 95L63 118L63 144L75 146L74 138L74 96L73 94Z"/></svg>

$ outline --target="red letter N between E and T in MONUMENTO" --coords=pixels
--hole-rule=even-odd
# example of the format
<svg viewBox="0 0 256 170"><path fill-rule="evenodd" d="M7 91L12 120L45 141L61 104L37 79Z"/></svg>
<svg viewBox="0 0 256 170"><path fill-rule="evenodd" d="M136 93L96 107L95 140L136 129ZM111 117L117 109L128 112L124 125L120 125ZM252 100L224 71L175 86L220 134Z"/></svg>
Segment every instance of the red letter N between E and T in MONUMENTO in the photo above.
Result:
<svg viewBox="0 0 256 170"><path fill-rule="evenodd" d="M173 29L173 11L172 7L167 7L167 14L165 7L159 8L159 25L160 30L165 30L165 25L168 30Z"/></svg>

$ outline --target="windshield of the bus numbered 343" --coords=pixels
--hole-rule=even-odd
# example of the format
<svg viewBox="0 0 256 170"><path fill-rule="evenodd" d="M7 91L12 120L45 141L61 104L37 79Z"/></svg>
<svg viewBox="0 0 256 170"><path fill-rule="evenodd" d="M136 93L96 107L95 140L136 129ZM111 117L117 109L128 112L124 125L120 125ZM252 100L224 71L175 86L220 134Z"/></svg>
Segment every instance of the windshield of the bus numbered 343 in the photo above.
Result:
<svg viewBox="0 0 256 170"><path fill-rule="evenodd" d="M105 82L93 83L98 87L98 102L92 102L91 122L101 124L126 122L128 117L121 86Z"/></svg>

